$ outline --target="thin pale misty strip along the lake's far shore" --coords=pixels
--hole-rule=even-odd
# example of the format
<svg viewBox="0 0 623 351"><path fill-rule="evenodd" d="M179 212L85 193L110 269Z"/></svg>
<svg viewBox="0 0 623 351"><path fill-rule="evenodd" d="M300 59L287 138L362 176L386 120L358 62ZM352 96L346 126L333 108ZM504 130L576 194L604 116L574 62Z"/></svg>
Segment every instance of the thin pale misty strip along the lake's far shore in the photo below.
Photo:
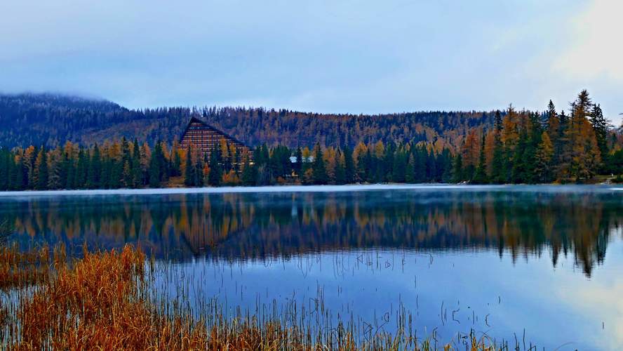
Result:
<svg viewBox="0 0 623 351"><path fill-rule="evenodd" d="M169 195L169 194L246 194L276 192L354 192L374 190L488 190L488 191L623 191L623 185L466 185L466 184L352 184L352 185L265 185L253 187L162 187L154 189L100 189L100 190L22 190L0 192L0 198L53 196L108 196L108 195Z"/></svg>

